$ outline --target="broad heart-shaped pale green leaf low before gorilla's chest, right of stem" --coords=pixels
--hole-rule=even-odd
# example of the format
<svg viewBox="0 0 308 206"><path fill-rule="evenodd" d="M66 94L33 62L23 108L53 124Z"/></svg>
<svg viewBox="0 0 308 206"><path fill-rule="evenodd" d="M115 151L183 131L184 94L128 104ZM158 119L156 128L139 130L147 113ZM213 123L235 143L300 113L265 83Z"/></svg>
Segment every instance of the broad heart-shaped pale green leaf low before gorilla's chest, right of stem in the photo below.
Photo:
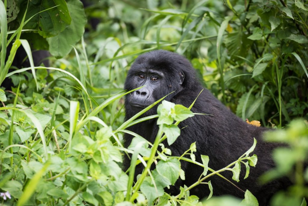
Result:
<svg viewBox="0 0 308 206"><path fill-rule="evenodd" d="M169 158L167 161L160 160L156 165L157 172L170 180L172 185L174 185L176 180L179 178L180 169L180 161L174 158Z"/></svg>

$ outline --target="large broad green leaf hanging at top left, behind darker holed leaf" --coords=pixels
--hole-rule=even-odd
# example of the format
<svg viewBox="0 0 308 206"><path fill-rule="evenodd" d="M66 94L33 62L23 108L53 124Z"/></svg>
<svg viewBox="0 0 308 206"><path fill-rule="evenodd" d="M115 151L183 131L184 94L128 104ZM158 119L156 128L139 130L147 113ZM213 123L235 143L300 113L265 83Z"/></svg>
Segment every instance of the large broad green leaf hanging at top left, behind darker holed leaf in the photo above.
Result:
<svg viewBox="0 0 308 206"><path fill-rule="evenodd" d="M81 1L67 1L67 7L72 19L71 24L57 36L47 38L49 51L56 57L63 57L71 51L71 45L74 46L80 40L87 22Z"/></svg>

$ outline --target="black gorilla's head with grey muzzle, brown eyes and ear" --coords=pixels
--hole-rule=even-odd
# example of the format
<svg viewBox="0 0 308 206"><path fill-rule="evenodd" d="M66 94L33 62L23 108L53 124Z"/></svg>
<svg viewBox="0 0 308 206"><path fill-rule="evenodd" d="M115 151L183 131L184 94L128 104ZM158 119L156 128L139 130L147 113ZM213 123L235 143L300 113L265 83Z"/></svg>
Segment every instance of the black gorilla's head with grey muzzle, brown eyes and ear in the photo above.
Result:
<svg viewBox="0 0 308 206"><path fill-rule="evenodd" d="M180 69L182 65L170 56L174 53L158 51L140 55L128 71L124 89L132 90L144 86L126 95L125 108L128 114L134 115L173 92L165 98L170 101L183 90L185 75ZM157 105L145 115L156 114L156 108Z"/></svg>

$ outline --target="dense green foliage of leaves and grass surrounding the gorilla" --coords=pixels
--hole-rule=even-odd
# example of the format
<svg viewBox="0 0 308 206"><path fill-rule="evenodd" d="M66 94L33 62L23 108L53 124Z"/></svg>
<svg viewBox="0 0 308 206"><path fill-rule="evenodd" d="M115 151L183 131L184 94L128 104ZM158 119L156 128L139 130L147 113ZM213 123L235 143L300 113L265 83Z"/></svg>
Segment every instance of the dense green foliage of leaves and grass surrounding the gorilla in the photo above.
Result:
<svg viewBox="0 0 308 206"><path fill-rule="evenodd" d="M208 180L224 178L227 170L235 180L226 180L230 184L241 181L241 170L248 176L258 167L256 142L218 171L208 167L211 157L195 161L195 144L180 157L160 144L172 144L179 121L198 115L189 108L163 101L158 115L148 117L159 119L154 144L132 134L131 146L122 146L126 128L148 119L138 117L153 107L124 121L127 70L137 55L159 48L191 59L205 86L243 120L278 127L267 140L289 147L274 151L277 168L260 181L287 176L294 185L275 194L271 205L306 205L306 1L101 0L83 1L85 8L79 0L3 2L0 84L11 81L11 87L0 88L2 205L258 205L248 190L244 200L211 197ZM30 67L12 65L18 47ZM31 50L37 49L49 50L51 67L34 67ZM132 166L122 171L128 153ZM170 196L164 187L185 178L179 160L205 169L198 182ZM146 169L134 183L136 164ZM209 185L208 200L189 194L197 184Z"/></svg>

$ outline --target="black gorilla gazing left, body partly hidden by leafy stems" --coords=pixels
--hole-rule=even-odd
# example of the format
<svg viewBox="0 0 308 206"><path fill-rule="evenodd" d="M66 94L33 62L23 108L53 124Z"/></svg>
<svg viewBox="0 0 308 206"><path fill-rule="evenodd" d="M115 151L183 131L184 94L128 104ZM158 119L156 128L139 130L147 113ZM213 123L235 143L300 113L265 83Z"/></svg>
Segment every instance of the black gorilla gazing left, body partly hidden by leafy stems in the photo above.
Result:
<svg viewBox="0 0 308 206"><path fill-rule="evenodd" d="M140 55L132 64L124 88L129 91L141 86L144 87L131 92L125 98L126 119L171 92L173 93L165 100L189 107L204 89L191 63L183 56L166 50L154 50ZM156 110L157 105L147 111L144 116L154 115ZM258 157L257 165L250 169L249 177L245 180L245 172L241 172L240 182L235 184L244 191L248 189L252 192L258 199L259 205L267 205L275 192L286 187L287 180L282 179L266 185L258 184L258 177L275 166L271 152L276 145L262 140L263 132L269 129L255 127L244 122L207 89L201 92L191 111L210 115L195 115L178 125L182 129L176 141L170 146L167 142L163 142L171 149L172 156L181 156L189 149L191 143L196 142L196 161L202 162L201 155L208 155L209 167L219 170L243 155L253 145L253 138L256 138L257 146L253 154ZM138 123L129 127L128 130L153 143L158 132L156 120L151 119ZM132 135L124 135L125 147L130 145L132 138ZM128 158L124 157L124 168L128 169L129 164ZM140 174L143 168L141 164L136 167L135 180L136 175ZM186 161L181 161L181 168L185 172L185 180L177 180L175 186L168 190L171 195L179 194L180 186L184 184L190 186L195 183L203 172L202 167ZM231 171L225 171L222 175L232 180ZM230 194L244 197L243 191L221 177L215 175L210 180L214 195ZM190 194L197 195L199 198L208 196L208 185L200 184L192 188Z"/></svg>

